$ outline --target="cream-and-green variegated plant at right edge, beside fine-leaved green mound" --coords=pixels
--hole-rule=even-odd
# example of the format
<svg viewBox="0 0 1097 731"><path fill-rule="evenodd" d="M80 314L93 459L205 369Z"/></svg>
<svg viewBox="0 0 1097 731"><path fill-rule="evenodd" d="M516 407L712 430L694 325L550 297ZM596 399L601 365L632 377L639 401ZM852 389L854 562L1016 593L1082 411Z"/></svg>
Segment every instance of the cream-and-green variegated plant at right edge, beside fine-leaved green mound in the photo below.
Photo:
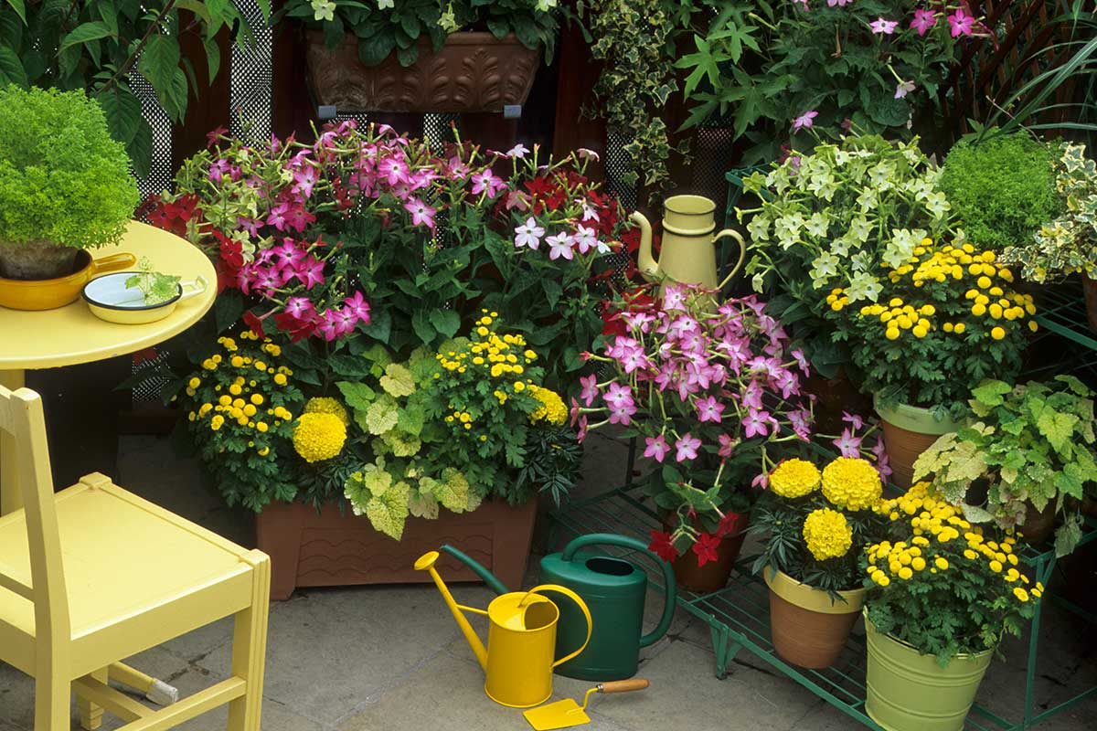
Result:
<svg viewBox="0 0 1097 731"><path fill-rule="evenodd" d="M1089 329L1097 331L1097 162L1085 145L1061 142L1055 161L1055 193L1062 215L1044 222L1026 242L1007 247L1003 261L1018 264L1029 282L1044 283L1081 274Z"/></svg>

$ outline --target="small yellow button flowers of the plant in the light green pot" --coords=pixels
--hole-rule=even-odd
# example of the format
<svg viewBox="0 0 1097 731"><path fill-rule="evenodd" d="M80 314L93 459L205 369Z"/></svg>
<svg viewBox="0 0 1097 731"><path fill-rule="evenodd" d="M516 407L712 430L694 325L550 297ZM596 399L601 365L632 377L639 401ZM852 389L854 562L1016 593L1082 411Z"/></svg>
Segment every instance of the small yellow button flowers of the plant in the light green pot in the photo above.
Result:
<svg viewBox="0 0 1097 731"><path fill-rule="evenodd" d="M1043 594L1043 586L1039 582L1031 590L1025 589L1029 579L1017 569L1019 559L1015 552L1016 539L1013 536L1004 538L1000 544L985 539L981 527L972 526L955 507L931 494L928 482L918 482L906 494L885 501L883 510L892 521L897 521L905 514L913 537L909 544L901 540L893 545L885 540L869 547L867 571L880 586L891 583L891 578L909 580L927 567L931 573L946 571L950 567L948 558L932 555L942 545L962 537L966 547L958 556L962 556L969 566L961 569L985 563L993 573L1000 574L1007 584L1017 584L1011 594L1022 603Z"/></svg>

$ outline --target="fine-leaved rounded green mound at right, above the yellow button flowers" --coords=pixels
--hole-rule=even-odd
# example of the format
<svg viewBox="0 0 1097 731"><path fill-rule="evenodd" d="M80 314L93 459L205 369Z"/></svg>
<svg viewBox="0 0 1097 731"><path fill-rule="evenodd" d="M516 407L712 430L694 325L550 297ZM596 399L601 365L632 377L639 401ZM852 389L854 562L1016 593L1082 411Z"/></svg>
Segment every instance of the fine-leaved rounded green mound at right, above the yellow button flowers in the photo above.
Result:
<svg viewBox="0 0 1097 731"><path fill-rule="evenodd" d="M1025 133L962 141L945 159L940 184L968 239L1002 251L1028 243L1062 213L1053 163L1051 149Z"/></svg>

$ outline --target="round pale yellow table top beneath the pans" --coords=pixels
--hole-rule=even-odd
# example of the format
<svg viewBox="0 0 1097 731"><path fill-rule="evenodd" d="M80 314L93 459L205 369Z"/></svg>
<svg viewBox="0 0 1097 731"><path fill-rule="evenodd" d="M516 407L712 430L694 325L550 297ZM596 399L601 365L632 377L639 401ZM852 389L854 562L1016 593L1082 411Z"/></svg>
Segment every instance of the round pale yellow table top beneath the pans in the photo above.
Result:
<svg viewBox="0 0 1097 731"><path fill-rule="evenodd" d="M189 282L205 277L205 292L181 300L162 320L115 324L100 320L83 299L36 312L0 307L0 370L56 368L125 355L161 343L205 315L217 296L217 274L208 256L185 239L132 221L117 245L95 249L95 259L128 252L147 259L154 271Z"/></svg>

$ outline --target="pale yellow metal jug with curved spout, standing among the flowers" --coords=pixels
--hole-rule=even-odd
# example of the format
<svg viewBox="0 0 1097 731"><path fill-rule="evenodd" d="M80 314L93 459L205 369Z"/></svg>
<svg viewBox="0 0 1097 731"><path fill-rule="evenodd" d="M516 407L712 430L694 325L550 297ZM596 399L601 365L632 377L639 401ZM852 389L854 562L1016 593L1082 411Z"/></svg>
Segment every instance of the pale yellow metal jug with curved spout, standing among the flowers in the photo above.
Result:
<svg viewBox="0 0 1097 731"><path fill-rule="evenodd" d="M733 229L716 235L716 204L702 195L674 195L663 202L663 248L659 261L652 256L652 225L640 212L632 220L640 225L640 271L649 282L700 284L722 288L743 266L746 243ZM739 261L723 282L716 279L717 239L730 236L739 244Z"/></svg>

